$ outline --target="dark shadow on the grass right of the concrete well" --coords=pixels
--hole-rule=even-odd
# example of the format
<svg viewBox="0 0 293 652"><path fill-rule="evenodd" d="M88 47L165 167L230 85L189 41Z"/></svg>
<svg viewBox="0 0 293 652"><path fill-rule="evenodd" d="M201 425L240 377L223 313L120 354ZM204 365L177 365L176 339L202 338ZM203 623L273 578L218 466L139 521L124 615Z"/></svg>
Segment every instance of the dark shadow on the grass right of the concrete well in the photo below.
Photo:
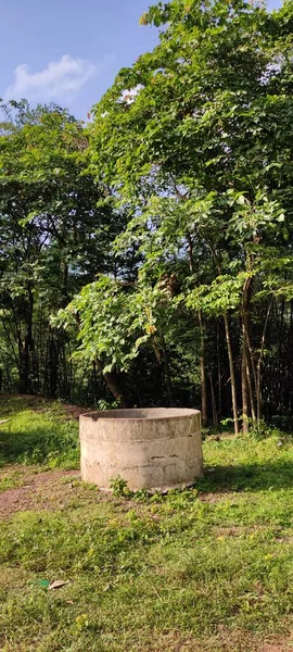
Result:
<svg viewBox="0 0 293 652"><path fill-rule="evenodd" d="M204 477L196 482L196 489L203 493L289 488L293 488L293 465L288 460L206 467Z"/></svg>

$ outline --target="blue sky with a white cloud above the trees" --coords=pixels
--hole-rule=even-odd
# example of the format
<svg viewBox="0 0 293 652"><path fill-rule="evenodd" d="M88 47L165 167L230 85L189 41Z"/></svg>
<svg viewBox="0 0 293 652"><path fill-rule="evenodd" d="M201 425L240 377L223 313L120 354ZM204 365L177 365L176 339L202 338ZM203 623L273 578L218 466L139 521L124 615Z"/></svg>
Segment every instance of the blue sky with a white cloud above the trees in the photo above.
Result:
<svg viewBox="0 0 293 652"><path fill-rule="evenodd" d="M150 0L0 0L0 97L56 102L80 120L157 42ZM277 7L279 0L270 0Z"/></svg>

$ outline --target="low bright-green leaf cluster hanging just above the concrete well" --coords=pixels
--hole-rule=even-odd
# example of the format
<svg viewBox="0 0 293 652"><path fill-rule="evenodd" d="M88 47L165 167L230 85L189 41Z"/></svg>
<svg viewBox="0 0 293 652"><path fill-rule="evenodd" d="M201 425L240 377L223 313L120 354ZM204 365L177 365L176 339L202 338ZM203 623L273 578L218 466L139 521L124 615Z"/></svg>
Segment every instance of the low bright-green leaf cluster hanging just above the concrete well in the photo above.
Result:
<svg viewBox="0 0 293 652"><path fill-rule="evenodd" d="M120 283L106 276L82 288L80 294L52 318L53 325L78 324L76 355L100 360L103 371L126 371L149 340L168 323L168 294L160 287Z"/></svg>

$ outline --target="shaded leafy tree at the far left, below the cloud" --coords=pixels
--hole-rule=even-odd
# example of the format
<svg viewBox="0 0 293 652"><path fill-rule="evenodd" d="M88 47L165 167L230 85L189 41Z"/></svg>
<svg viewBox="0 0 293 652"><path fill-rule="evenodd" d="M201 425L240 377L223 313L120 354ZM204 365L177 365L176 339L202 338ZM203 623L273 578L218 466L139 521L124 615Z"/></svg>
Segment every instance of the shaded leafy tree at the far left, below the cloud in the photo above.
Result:
<svg viewBox="0 0 293 652"><path fill-rule="evenodd" d="M67 392L66 339L49 326L97 273L113 271L123 216L87 173L82 124L55 106L16 116L0 142L2 337L22 392Z"/></svg>

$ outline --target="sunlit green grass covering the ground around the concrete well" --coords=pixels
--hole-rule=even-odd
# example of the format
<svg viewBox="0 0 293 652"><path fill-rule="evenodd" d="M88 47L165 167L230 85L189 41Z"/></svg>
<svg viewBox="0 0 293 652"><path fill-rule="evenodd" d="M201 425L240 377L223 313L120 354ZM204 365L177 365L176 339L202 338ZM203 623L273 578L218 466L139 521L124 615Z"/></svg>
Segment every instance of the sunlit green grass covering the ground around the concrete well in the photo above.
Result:
<svg viewBox="0 0 293 652"><path fill-rule="evenodd" d="M76 467L77 424L41 409L2 412L2 490L23 462ZM291 650L293 442L206 440L204 457L191 490L105 497L66 476L78 496L62 510L4 519L1 652L267 652L270 637Z"/></svg>

